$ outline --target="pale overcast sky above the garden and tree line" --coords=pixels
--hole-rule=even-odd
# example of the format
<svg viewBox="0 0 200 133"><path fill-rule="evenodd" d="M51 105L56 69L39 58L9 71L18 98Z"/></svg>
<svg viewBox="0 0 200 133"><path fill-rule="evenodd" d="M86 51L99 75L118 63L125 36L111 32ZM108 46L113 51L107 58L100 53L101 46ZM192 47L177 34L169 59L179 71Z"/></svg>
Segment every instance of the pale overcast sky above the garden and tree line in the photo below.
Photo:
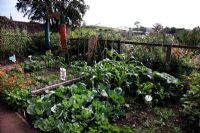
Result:
<svg viewBox="0 0 200 133"><path fill-rule="evenodd" d="M0 15L22 19L15 9L17 0L0 0ZM134 27L134 22L151 27L194 28L200 26L200 0L85 0L90 6L84 20L87 25Z"/></svg>

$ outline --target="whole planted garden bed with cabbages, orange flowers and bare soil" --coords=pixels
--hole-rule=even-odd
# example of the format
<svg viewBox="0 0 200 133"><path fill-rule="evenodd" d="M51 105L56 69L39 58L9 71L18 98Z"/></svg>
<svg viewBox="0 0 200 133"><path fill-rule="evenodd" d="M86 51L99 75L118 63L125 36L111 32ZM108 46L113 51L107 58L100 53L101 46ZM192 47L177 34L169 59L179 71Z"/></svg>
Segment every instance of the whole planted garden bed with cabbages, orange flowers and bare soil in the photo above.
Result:
<svg viewBox="0 0 200 133"><path fill-rule="evenodd" d="M33 127L42 132L199 131L198 74L187 76L190 86L185 86L167 73L117 57L121 61L104 59L93 66L73 62L65 67L68 75L87 79L36 97L30 96L27 87L59 80L58 69L51 65L40 69L31 61L22 66L28 64L34 71L23 74L22 67L15 66L1 72L1 99L19 112L24 110ZM188 125L191 128L185 128Z"/></svg>

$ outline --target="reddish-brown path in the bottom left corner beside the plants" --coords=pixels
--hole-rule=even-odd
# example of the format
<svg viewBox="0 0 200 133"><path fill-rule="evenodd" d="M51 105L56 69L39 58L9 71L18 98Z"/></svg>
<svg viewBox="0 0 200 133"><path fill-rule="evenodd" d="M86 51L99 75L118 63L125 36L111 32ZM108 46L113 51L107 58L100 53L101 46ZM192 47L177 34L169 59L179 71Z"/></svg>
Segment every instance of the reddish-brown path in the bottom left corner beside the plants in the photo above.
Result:
<svg viewBox="0 0 200 133"><path fill-rule="evenodd" d="M20 115L0 103L0 133L37 133Z"/></svg>

